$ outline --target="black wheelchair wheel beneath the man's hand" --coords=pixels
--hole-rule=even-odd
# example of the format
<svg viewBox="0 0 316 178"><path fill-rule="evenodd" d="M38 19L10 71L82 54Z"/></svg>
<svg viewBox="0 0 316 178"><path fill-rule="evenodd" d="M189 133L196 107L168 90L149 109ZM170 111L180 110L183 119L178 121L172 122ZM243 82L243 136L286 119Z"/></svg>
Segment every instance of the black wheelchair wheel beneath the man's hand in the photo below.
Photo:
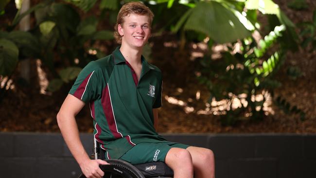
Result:
<svg viewBox="0 0 316 178"><path fill-rule="evenodd" d="M106 160L109 164L100 165L105 172L103 178L145 178L143 174L132 164L123 160ZM81 174L79 178L86 178Z"/></svg>

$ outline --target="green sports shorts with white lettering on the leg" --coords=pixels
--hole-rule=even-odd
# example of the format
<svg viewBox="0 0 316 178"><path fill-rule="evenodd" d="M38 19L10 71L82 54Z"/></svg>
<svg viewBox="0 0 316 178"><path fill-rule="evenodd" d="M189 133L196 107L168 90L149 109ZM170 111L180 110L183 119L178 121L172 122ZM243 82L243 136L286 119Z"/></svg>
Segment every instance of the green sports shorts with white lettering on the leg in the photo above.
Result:
<svg viewBox="0 0 316 178"><path fill-rule="evenodd" d="M141 142L128 150L120 160L125 160L131 164L164 162L168 151L174 147L186 149L189 145L176 142Z"/></svg>

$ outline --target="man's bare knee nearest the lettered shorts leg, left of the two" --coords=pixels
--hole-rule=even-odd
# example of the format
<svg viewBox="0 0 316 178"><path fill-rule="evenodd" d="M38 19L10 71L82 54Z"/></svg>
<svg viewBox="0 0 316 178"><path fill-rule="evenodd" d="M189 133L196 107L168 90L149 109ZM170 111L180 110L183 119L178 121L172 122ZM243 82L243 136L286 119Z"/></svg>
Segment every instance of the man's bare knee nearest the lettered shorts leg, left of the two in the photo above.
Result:
<svg viewBox="0 0 316 178"><path fill-rule="evenodd" d="M174 178L193 178L193 163L190 152L182 148L171 148L165 163L174 171Z"/></svg>

